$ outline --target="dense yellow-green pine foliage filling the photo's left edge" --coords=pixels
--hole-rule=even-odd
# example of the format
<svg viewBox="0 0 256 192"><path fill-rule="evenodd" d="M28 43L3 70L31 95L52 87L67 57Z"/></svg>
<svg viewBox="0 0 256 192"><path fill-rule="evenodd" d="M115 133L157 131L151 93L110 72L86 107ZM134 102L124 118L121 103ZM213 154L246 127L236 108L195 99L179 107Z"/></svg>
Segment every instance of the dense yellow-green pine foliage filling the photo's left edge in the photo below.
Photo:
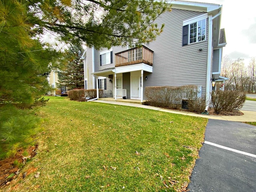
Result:
<svg viewBox="0 0 256 192"><path fill-rule="evenodd" d="M46 79L56 52L32 33L27 8L0 2L0 158L32 144L40 119L27 110L47 92Z"/></svg>

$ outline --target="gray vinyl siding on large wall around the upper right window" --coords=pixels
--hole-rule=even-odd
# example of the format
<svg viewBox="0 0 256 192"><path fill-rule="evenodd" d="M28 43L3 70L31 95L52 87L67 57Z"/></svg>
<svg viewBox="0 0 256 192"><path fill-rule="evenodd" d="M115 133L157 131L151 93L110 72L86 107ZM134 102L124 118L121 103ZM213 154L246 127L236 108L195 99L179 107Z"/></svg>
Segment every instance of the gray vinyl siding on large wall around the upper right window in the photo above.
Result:
<svg viewBox="0 0 256 192"><path fill-rule="evenodd" d="M158 26L162 23L165 26L155 41L145 45L154 51L154 60L153 72L147 74L144 87L194 84L202 86L202 93L205 94L208 38L206 36L206 41L182 46L183 21L200 14L204 13L172 9L157 20ZM199 52L199 48L203 50Z"/></svg>

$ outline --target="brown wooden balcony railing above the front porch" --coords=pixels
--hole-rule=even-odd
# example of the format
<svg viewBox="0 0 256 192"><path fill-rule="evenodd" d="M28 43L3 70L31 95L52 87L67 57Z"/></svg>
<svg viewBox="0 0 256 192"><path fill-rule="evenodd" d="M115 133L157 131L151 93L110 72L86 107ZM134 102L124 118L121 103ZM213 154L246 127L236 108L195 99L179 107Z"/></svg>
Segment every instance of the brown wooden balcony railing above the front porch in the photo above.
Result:
<svg viewBox="0 0 256 192"><path fill-rule="evenodd" d="M115 67L145 63L153 65L153 51L145 46L134 47L115 54Z"/></svg>

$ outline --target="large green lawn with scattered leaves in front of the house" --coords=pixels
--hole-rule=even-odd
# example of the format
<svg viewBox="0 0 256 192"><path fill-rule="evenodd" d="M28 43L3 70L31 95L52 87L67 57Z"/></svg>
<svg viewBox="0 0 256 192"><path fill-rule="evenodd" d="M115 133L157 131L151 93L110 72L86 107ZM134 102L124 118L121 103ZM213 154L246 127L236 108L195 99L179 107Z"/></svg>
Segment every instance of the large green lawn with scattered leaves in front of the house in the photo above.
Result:
<svg viewBox="0 0 256 192"><path fill-rule="evenodd" d="M207 119L49 98L38 110L45 118L38 154L7 191L182 191L188 185ZM24 172L31 174L22 179Z"/></svg>

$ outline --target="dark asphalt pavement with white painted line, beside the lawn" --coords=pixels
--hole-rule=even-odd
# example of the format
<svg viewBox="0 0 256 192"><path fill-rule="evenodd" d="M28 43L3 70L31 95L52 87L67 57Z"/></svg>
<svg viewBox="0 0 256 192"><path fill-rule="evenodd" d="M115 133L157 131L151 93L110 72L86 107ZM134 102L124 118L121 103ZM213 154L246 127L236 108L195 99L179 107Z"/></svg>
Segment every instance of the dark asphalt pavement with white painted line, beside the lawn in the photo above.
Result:
<svg viewBox="0 0 256 192"><path fill-rule="evenodd" d="M256 192L256 126L209 119L190 192Z"/></svg>

